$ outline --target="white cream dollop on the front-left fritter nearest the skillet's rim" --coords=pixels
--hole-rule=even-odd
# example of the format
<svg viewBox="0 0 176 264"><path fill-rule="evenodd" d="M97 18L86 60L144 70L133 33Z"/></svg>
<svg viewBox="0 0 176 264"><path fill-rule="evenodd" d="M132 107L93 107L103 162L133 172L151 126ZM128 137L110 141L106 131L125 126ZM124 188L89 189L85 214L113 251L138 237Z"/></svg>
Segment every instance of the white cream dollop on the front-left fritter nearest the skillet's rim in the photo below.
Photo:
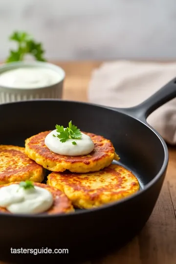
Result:
<svg viewBox="0 0 176 264"><path fill-rule="evenodd" d="M0 207L13 214L39 214L47 211L53 204L52 194L41 187L24 189L19 184L0 188Z"/></svg>

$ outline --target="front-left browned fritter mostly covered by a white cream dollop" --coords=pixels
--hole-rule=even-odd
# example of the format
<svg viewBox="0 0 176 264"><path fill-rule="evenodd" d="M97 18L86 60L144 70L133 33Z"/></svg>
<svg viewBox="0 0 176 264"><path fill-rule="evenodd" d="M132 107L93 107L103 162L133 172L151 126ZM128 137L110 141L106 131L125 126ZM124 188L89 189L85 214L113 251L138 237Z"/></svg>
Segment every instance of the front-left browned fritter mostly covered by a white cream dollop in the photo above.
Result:
<svg viewBox="0 0 176 264"><path fill-rule="evenodd" d="M3 186L10 185L10 184L19 184L19 183L20 182L17 181L17 182L12 182L12 183L5 184L5 185L0 185L0 188ZM51 187L43 183L34 182L33 184L35 186L47 189L53 196L53 200L54 200L53 205L51 206L49 210L47 210L46 212L42 214L53 215L53 214L74 212L74 208L73 208L71 201L66 197L66 195L63 192L61 192L57 188ZM2 207L0 207L0 213L11 214L8 210Z"/></svg>

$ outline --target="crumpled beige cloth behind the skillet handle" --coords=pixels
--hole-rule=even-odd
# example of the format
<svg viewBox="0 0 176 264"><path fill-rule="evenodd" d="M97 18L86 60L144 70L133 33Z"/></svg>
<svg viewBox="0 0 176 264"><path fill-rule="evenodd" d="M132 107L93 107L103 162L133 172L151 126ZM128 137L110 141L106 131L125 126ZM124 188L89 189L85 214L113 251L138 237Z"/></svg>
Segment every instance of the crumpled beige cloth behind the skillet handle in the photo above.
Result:
<svg viewBox="0 0 176 264"><path fill-rule="evenodd" d="M92 72L88 101L126 108L140 104L176 77L176 63L107 62ZM147 122L176 145L176 99L155 110Z"/></svg>

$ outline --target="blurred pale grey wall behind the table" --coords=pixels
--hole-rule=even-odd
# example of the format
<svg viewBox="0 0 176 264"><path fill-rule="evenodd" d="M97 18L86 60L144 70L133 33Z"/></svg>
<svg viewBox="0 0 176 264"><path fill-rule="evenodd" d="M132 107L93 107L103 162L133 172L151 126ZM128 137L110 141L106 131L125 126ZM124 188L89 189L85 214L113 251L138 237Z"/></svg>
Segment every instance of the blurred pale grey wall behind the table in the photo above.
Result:
<svg viewBox="0 0 176 264"><path fill-rule="evenodd" d="M0 0L0 60L25 30L49 60L176 58L176 0Z"/></svg>

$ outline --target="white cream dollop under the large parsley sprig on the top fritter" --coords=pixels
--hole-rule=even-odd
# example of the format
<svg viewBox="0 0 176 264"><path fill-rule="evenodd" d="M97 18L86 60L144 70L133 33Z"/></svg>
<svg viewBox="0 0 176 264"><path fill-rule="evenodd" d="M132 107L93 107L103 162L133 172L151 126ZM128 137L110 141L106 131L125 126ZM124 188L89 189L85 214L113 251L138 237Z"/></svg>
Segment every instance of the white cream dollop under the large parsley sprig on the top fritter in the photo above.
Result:
<svg viewBox="0 0 176 264"><path fill-rule="evenodd" d="M88 135L81 134L82 137L80 139L69 138L66 142L61 142L57 137L56 130L53 130L45 137L44 144L50 151L56 154L68 156L87 155L93 151L94 143ZM72 144L73 141L76 142L76 145Z"/></svg>

